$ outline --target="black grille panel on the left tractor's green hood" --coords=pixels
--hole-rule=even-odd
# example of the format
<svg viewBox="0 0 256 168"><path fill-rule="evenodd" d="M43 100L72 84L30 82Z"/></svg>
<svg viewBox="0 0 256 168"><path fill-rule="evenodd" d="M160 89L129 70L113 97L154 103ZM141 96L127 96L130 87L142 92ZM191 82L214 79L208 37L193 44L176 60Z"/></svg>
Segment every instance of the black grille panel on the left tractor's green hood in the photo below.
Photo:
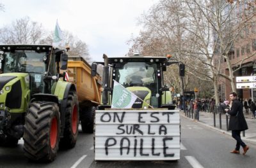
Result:
<svg viewBox="0 0 256 168"><path fill-rule="evenodd" d="M18 109L21 106L22 90L20 80L12 85L12 90L6 96L5 106L10 109Z"/></svg>

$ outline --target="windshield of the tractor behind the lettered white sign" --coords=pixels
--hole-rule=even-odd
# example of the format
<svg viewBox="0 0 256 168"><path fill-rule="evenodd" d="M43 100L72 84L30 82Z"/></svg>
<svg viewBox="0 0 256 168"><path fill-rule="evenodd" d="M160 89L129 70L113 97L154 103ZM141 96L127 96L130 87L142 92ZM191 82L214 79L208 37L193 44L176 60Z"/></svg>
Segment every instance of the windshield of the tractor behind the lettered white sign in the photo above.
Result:
<svg viewBox="0 0 256 168"><path fill-rule="evenodd" d="M141 86L156 88L157 65L145 62L127 62L120 69L116 69L116 81L124 87Z"/></svg>

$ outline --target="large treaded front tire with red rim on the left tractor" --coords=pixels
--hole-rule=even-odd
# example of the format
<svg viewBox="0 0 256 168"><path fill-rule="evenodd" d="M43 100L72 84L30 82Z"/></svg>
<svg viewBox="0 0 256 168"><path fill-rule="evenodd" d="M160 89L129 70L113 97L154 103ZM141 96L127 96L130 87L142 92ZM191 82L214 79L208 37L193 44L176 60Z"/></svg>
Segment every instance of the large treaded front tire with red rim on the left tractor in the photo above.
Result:
<svg viewBox="0 0 256 168"><path fill-rule="evenodd" d="M54 102L32 102L24 125L24 152L30 160L51 162L60 141L60 111Z"/></svg>

